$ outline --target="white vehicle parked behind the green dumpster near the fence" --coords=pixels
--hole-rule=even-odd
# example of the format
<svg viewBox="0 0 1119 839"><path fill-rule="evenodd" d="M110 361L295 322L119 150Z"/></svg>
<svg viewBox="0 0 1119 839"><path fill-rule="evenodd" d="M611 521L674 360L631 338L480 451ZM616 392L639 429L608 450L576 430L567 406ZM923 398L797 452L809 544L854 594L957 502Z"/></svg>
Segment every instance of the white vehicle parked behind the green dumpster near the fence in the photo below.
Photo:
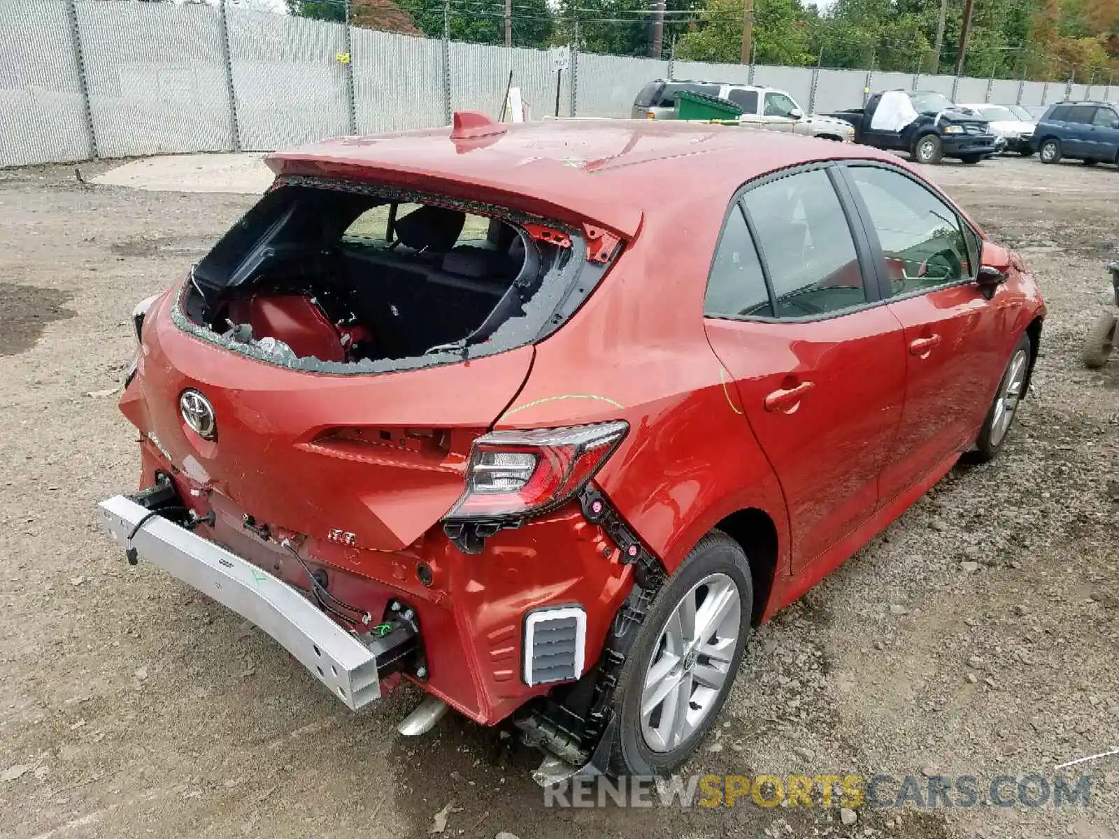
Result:
<svg viewBox="0 0 1119 839"><path fill-rule="evenodd" d="M681 91L733 102L743 110L739 122L772 131L819 136L826 140L854 142L855 129L850 123L831 116L805 115L803 109L790 94L773 87L739 85L725 82L650 82L637 95L632 116L639 120L676 119L676 94Z"/></svg>

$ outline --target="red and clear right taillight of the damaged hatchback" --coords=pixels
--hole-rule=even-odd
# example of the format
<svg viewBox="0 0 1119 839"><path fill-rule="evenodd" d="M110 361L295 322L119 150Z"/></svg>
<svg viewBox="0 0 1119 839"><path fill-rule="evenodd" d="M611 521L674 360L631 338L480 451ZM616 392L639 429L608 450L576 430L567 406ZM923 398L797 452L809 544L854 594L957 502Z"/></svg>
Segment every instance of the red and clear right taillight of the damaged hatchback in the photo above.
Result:
<svg viewBox="0 0 1119 839"><path fill-rule="evenodd" d="M628 423L615 421L478 437L467 489L443 519L500 521L554 510L591 480L627 431Z"/></svg>

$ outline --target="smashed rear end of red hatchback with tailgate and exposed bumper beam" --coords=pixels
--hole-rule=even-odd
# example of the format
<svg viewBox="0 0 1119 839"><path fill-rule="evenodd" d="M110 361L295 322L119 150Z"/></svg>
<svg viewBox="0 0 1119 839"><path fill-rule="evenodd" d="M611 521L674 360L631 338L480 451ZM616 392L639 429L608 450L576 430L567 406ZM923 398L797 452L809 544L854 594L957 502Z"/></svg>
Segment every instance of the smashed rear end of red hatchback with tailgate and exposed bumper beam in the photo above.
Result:
<svg viewBox="0 0 1119 839"><path fill-rule="evenodd" d="M496 723L593 667L632 585L581 506L628 425L491 431L624 232L446 178L274 168L137 309L140 491L102 515L349 707L403 677Z"/></svg>

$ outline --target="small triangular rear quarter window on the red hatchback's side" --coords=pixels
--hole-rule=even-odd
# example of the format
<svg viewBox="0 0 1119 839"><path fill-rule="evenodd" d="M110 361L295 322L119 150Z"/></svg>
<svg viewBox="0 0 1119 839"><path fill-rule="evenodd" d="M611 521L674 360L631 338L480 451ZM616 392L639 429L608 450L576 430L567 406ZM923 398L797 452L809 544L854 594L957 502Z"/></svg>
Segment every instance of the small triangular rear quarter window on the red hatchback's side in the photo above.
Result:
<svg viewBox="0 0 1119 839"><path fill-rule="evenodd" d="M704 314L708 318L773 317L758 249L737 205L726 219L715 252Z"/></svg>

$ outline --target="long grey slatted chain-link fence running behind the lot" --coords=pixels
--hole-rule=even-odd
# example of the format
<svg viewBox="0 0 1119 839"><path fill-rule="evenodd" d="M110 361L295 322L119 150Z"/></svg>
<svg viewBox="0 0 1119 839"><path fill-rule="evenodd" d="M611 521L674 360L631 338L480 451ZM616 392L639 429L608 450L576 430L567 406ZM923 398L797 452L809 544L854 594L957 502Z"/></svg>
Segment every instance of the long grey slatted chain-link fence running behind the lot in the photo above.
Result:
<svg viewBox="0 0 1119 839"><path fill-rule="evenodd" d="M323 136L498 117L509 85L530 119L629 116L656 78L777 87L808 111L872 89L1045 105L1111 85L705 64L376 31L216 4L0 0L0 167L167 152L271 151ZM511 77L510 77L511 74Z"/></svg>

